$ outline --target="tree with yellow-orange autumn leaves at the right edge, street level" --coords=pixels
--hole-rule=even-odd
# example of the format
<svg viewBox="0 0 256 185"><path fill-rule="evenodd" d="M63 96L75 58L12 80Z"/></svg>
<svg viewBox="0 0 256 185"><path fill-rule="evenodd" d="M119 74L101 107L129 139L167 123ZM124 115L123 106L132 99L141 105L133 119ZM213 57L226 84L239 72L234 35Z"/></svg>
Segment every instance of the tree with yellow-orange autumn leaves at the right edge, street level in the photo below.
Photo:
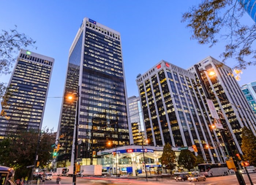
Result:
<svg viewBox="0 0 256 185"><path fill-rule="evenodd" d="M250 165L256 165L256 136L252 130L244 127L242 129L242 152L245 161L249 161Z"/></svg>

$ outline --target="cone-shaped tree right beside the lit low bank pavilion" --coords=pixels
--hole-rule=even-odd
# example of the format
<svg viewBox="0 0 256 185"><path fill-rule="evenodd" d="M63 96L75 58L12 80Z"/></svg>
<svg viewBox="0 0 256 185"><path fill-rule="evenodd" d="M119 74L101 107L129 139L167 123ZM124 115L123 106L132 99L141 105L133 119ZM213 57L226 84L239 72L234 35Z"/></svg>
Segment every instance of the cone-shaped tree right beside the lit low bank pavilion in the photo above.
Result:
<svg viewBox="0 0 256 185"><path fill-rule="evenodd" d="M172 146L169 143L165 144L165 146L163 147L163 154L160 159L162 165L165 165L166 168L169 169L170 173L172 174L172 170L176 166L176 155L175 152L172 150Z"/></svg>

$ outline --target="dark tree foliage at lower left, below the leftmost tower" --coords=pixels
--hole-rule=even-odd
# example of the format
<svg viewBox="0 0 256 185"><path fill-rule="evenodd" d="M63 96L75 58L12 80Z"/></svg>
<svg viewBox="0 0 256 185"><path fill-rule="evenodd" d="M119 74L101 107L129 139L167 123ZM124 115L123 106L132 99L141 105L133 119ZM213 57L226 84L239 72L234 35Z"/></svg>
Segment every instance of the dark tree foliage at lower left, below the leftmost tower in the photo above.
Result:
<svg viewBox="0 0 256 185"><path fill-rule="evenodd" d="M55 134L49 129L43 129L41 134L30 131L13 139L4 139L0 142L0 165L15 167L15 175L19 178L28 176L31 169L26 166L34 165L37 146L38 161L44 167L52 159L54 140Z"/></svg>

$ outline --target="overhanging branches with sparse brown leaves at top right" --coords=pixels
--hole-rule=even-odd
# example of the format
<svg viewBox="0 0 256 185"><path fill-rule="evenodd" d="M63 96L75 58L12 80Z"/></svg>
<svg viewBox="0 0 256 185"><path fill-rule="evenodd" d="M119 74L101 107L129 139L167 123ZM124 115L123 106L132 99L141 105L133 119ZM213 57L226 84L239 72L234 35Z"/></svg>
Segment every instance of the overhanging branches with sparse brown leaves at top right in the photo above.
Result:
<svg viewBox="0 0 256 185"><path fill-rule="evenodd" d="M236 58L236 68L244 69L256 64L256 50L252 47L256 24L241 24L240 18L244 13L238 0L203 0L185 12L182 21L188 22L187 27L193 31L191 38L197 39L199 44L210 44L211 47L220 38L225 39L225 52L221 54L223 62L227 58ZM252 60L245 61L246 56Z"/></svg>

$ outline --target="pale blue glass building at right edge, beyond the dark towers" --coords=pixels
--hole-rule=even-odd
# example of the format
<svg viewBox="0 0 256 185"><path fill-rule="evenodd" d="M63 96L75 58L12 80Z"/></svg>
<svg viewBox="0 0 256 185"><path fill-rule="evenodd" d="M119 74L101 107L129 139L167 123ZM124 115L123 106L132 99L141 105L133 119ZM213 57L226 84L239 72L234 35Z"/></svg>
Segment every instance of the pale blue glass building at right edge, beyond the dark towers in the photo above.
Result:
<svg viewBox="0 0 256 185"><path fill-rule="evenodd" d="M256 115L256 82L248 83L242 86L242 91Z"/></svg>

